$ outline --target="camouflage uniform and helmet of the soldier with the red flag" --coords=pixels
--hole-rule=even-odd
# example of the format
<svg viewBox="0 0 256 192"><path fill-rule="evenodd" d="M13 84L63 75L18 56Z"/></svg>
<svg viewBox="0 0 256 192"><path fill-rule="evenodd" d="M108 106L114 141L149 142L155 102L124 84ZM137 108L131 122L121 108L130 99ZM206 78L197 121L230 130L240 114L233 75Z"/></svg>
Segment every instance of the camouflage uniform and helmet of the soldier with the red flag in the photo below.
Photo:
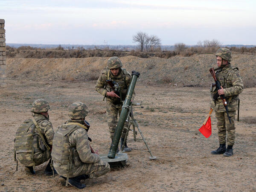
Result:
<svg viewBox="0 0 256 192"><path fill-rule="evenodd" d="M218 51L222 51L222 55L218 55ZM221 48L216 53L217 56L222 56L226 61L231 61L231 52L229 49ZM225 55L226 53L230 55ZM224 55L223 55L224 54ZM239 94L243 91L243 81L239 74L239 70L236 67L232 67L231 64L225 65L223 68L219 67L216 70L216 78L220 81L221 86L224 89L224 96L228 103L229 116L231 123L227 118L227 113L220 97L216 101L210 102L210 107L215 111L215 116L218 120L218 138L219 143L226 143L233 146L235 142L235 115L238 109ZM211 87L212 96L217 92L216 87Z"/></svg>

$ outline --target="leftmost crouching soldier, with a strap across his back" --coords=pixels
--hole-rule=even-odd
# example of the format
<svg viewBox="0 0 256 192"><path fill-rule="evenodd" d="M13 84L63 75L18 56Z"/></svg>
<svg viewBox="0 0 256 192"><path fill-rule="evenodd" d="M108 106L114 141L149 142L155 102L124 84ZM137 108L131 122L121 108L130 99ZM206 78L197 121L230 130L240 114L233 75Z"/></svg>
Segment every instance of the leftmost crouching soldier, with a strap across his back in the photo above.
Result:
<svg viewBox="0 0 256 192"><path fill-rule="evenodd" d="M41 165L51 158L54 131L49 122L50 106L44 99L37 99L32 104L32 117L25 120L17 129L15 136L15 160L25 166L26 172L35 174L34 166ZM44 171L52 175L51 160Z"/></svg>

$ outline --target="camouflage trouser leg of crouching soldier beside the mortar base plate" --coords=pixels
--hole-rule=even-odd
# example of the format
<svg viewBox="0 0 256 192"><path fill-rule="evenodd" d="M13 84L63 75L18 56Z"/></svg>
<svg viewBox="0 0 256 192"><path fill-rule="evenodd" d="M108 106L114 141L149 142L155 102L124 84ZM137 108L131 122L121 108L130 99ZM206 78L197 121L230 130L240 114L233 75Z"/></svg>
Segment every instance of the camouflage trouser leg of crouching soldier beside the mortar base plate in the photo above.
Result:
<svg viewBox="0 0 256 192"><path fill-rule="evenodd" d="M110 171L108 162L100 160L97 163L84 164L82 171L79 175L89 175L89 178L96 178L105 175ZM77 176L79 176L77 175Z"/></svg>

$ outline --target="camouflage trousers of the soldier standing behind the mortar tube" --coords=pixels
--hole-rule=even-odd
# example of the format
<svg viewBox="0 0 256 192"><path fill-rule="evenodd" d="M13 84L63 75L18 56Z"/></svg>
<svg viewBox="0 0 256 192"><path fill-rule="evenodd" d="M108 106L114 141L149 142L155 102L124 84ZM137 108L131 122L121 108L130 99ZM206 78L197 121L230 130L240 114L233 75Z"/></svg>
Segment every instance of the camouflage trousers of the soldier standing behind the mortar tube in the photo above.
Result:
<svg viewBox="0 0 256 192"><path fill-rule="evenodd" d="M108 128L110 132L110 138L113 139L117 125L117 115L120 116L122 111L122 103L119 105L106 104L106 113L108 118ZM128 122L125 122L124 127L128 127ZM127 129L123 129L121 138L125 138Z"/></svg>

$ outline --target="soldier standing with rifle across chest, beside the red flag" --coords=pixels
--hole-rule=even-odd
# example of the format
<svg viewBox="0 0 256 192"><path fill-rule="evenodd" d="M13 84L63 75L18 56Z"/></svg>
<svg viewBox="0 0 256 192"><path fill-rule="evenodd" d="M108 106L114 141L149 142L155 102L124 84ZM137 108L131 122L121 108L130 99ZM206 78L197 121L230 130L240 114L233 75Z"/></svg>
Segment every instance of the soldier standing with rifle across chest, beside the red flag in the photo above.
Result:
<svg viewBox="0 0 256 192"><path fill-rule="evenodd" d="M233 155L235 143L235 115L238 110L239 94L243 91L243 81L237 67L232 67L231 51L220 48L216 52L218 68L212 73L215 84L211 86L211 108L217 118L218 138L220 146L212 154L223 154L225 157ZM210 69L212 71L212 69ZM219 87L220 85L220 87ZM227 148L226 148L227 135Z"/></svg>

